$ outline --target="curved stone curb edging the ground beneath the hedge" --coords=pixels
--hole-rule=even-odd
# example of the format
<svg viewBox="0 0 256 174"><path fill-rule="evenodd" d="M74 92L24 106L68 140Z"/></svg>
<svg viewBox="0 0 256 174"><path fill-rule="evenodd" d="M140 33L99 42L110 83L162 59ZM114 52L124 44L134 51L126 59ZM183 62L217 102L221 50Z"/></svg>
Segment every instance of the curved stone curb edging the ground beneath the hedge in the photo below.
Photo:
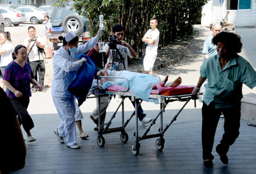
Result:
<svg viewBox="0 0 256 174"><path fill-rule="evenodd" d="M164 68L167 68L168 66L170 65L174 65L174 64L177 64L181 61L181 59L183 58L183 56L185 55L185 53L188 51L188 49L190 48L191 44L193 43L193 41L195 40L195 37L197 36L198 34L196 34L191 40L190 42L186 45L186 47L181 51L180 55L177 56L175 59L172 59L172 60L169 60L169 61L166 61L162 64L158 64L158 65L154 65L153 67L153 70L154 71L157 71L159 69L164 69ZM137 71L134 71L134 72L138 72L138 73L142 73L144 72L144 69L137 69Z"/></svg>

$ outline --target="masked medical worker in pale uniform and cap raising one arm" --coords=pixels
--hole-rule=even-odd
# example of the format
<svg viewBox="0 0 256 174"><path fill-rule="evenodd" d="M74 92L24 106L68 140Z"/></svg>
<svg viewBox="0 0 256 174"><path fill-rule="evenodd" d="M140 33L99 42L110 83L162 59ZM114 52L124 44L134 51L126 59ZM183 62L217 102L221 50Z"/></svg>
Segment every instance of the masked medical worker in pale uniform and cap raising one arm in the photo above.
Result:
<svg viewBox="0 0 256 174"><path fill-rule="evenodd" d="M80 148L76 141L76 123L75 123L75 100L73 94L68 91L76 68L85 63L86 59L76 59L80 53L85 53L97 44L101 30L98 34L82 45L79 44L79 38L73 31L63 38L61 46L53 56L53 79L52 79L52 99L61 118L60 126L54 131L60 143L64 143L63 137L67 139L67 147Z"/></svg>

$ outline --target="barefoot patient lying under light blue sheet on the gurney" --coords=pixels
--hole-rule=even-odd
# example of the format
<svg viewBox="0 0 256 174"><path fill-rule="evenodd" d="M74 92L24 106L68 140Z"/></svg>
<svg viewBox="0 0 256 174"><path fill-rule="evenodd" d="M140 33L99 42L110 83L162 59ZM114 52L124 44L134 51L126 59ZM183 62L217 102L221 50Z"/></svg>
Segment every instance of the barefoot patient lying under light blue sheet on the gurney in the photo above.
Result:
<svg viewBox="0 0 256 174"><path fill-rule="evenodd" d="M135 96L141 98L144 101L149 100L149 96L152 90L159 90L158 92L162 92L163 90L170 89L172 87L176 87L181 84L181 77L177 77L172 82L168 81L168 76L166 76L162 81L157 76L153 76L151 74L130 72L130 71L110 71L110 64L106 64L105 68L101 71L97 72L97 76L108 76L101 78L101 84L103 89L127 89L133 93ZM119 78L111 78L111 77L119 77ZM121 77L121 78L120 78ZM129 85L128 85L128 81ZM113 87L114 86L114 87ZM122 86L118 88L117 86Z"/></svg>

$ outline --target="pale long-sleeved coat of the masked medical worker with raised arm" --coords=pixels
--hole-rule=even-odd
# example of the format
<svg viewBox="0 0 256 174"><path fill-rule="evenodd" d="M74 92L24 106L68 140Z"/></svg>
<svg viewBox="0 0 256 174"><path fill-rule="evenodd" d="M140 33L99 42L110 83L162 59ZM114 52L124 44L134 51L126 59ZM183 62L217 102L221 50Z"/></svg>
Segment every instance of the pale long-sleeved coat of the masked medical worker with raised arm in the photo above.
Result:
<svg viewBox="0 0 256 174"><path fill-rule="evenodd" d="M90 39L85 44L79 45L76 52L69 53L64 47L60 47L53 56L53 78L52 96L72 98L68 91L68 86L73 80L75 70L79 67L76 56L92 49L97 44L97 40Z"/></svg>

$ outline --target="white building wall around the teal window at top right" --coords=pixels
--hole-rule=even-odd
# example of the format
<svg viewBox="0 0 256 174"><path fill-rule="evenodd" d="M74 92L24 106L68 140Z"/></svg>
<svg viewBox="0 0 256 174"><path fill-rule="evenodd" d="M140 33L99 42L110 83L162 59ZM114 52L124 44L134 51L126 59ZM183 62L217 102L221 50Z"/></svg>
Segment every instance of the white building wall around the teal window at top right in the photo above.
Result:
<svg viewBox="0 0 256 174"><path fill-rule="evenodd" d="M210 23L220 22L221 16L225 16L226 11L229 11L229 23L235 23L236 26L254 26L256 24L256 0L251 0L251 10L246 11L226 10L226 0L223 3L220 1L210 0L203 7L201 25L209 26Z"/></svg>

